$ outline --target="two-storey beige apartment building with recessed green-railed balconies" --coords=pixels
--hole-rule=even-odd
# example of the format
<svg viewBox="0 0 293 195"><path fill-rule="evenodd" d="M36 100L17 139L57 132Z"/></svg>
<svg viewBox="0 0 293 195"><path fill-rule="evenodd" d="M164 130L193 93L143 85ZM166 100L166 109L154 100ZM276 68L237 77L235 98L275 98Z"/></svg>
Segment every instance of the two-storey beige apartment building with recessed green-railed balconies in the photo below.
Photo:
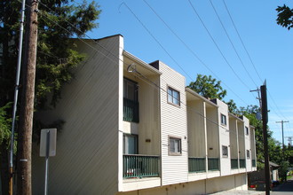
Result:
<svg viewBox="0 0 293 195"><path fill-rule="evenodd" d="M50 159L50 194L206 194L247 190L256 170L254 129L218 99L186 88L161 61L125 51L123 36L75 40L87 60L56 108L63 120ZM33 191L44 191L44 158L33 154Z"/></svg>

